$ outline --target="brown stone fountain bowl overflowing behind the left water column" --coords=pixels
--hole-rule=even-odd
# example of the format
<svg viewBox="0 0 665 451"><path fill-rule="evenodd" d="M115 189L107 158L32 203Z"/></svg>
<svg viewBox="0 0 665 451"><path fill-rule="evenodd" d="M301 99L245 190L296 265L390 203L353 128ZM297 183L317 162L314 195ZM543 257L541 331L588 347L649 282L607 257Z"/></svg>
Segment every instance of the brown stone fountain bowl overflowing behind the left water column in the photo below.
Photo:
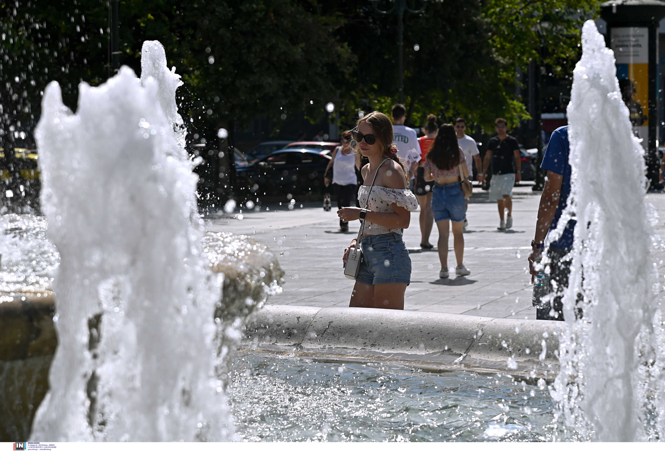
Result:
<svg viewBox="0 0 665 451"><path fill-rule="evenodd" d="M29 228L21 229L19 245L25 238L37 239ZM224 274L222 299L211 321L221 323L221 330L241 327L269 294L279 292L283 276L279 262L266 246L244 235L208 233L202 244L211 270ZM0 291L0 299L0 441L25 442L49 389L49 368L58 343L53 322L57 301L49 286L29 285ZM91 336L100 320L88 321ZM238 341L233 334L220 334L216 344L232 354Z"/></svg>

